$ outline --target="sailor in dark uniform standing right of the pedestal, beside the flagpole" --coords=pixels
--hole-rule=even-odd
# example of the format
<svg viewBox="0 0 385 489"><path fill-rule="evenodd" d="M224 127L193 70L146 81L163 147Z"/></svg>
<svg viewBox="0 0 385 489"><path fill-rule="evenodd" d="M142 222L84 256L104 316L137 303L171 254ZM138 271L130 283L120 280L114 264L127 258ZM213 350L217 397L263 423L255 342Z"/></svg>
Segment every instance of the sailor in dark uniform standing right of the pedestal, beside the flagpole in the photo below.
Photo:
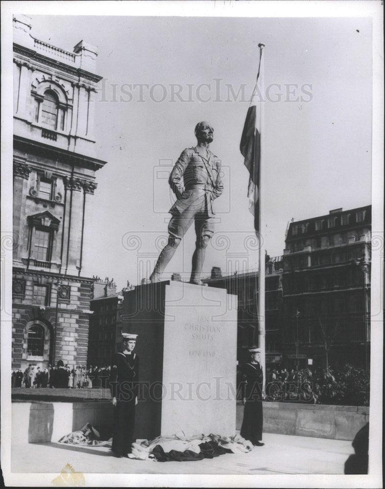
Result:
<svg viewBox="0 0 385 489"><path fill-rule="evenodd" d="M245 378L244 385L244 412L241 427L241 436L250 440L254 446L263 446L262 440L263 411L262 411L262 385L264 374L260 364L261 350L252 348L250 362L243 365L242 373Z"/></svg>

